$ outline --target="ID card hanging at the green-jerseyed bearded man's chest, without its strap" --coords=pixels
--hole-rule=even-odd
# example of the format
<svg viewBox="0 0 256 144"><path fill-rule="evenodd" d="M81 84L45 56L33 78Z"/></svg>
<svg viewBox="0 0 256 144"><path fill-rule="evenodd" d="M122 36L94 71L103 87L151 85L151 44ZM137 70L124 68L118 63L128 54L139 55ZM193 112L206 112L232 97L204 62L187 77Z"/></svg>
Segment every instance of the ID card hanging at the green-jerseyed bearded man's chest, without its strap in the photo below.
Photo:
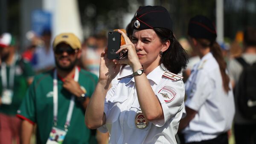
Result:
<svg viewBox="0 0 256 144"><path fill-rule="evenodd" d="M56 127L52 127L52 131L49 135L46 144L62 144L67 134L66 130L61 130Z"/></svg>

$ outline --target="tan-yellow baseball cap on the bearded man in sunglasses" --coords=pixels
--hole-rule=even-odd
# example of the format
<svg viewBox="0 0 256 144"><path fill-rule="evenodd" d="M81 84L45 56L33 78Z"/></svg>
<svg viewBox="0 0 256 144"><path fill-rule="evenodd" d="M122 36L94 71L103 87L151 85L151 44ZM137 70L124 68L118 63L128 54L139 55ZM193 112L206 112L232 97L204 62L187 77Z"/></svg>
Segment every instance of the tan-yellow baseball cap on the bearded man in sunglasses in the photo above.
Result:
<svg viewBox="0 0 256 144"><path fill-rule="evenodd" d="M62 33L57 35L53 41L53 49L55 50L56 46L62 42L70 45L73 49L81 49L81 42L75 34Z"/></svg>

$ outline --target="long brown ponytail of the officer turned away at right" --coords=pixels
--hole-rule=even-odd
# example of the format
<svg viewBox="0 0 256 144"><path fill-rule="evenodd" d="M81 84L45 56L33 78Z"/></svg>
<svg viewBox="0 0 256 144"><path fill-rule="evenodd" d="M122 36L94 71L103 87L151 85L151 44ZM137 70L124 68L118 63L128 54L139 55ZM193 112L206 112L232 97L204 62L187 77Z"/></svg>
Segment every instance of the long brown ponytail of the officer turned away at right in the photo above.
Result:
<svg viewBox="0 0 256 144"><path fill-rule="evenodd" d="M207 39L196 39L196 40L204 48L210 47L213 57L218 62L218 65L219 65L219 68L221 71L223 88L224 88L225 92L227 93L230 90L230 88L229 88L230 78L226 73L227 63L225 62L224 57L222 56L220 45L216 41L211 42L210 40L207 40Z"/></svg>

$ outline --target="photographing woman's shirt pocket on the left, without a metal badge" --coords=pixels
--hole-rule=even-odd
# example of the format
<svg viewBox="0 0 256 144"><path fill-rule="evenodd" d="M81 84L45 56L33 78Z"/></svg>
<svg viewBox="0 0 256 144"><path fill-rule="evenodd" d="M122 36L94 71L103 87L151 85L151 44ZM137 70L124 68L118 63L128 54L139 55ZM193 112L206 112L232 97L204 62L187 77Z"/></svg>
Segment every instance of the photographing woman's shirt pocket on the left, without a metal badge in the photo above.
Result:
<svg viewBox="0 0 256 144"><path fill-rule="evenodd" d="M121 113L122 104L127 99L128 96L113 96L108 100L109 108L106 123L114 123L118 119Z"/></svg>

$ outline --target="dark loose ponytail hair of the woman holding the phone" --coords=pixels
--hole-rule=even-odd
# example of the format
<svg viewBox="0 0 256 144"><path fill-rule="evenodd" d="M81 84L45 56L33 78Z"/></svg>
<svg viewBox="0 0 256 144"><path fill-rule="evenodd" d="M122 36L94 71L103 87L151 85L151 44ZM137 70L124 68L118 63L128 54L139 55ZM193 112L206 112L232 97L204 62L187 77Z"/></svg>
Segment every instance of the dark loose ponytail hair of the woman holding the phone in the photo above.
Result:
<svg viewBox="0 0 256 144"><path fill-rule="evenodd" d="M163 64L167 70L172 73L180 73L182 69L186 68L188 63L188 55L182 48L180 43L174 37L172 31L166 28L153 28L157 36L160 37L162 42L170 40L169 48L163 52L160 58L160 64Z"/></svg>

